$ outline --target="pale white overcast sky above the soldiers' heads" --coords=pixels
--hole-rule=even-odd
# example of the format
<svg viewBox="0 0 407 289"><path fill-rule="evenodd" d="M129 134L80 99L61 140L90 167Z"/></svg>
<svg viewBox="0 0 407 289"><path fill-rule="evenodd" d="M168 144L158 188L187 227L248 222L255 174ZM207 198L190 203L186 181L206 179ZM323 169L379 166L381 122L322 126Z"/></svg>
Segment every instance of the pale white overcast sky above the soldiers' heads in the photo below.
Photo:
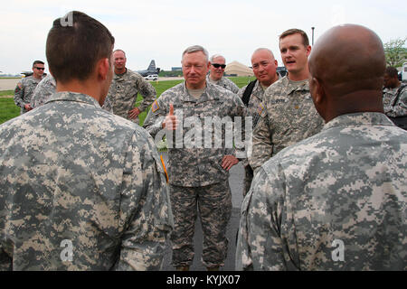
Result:
<svg viewBox="0 0 407 289"><path fill-rule="evenodd" d="M106 25L115 48L127 52L128 68L145 70L151 60L162 70L181 66L186 47L203 45L221 53L226 63L251 66L251 53L270 48L279 65L279 34L290 28L321 33L341 23L357 23L374 30L383 42L407 36L407 5L396 1L5 1L1 0L0 70L31 70L45 58L45 41L52 21L78 10ZM340 49L340 48L338 48ZM46 71L48 65L45 64Z"/></svg>

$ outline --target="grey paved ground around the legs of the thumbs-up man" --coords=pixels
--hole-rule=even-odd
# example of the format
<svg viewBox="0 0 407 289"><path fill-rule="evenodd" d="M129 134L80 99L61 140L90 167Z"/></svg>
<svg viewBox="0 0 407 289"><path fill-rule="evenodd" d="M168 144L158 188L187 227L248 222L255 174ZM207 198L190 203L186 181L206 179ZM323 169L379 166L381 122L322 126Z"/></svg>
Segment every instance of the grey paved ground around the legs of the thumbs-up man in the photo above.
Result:
<svg viewBox="0 0 407 289"><path fill-rule="evenodd" d="M166 154L163 154L163 158L166 161ZM228 254L224 266L221 271L234 271L234 259L236 253L236 232L239 228L240 211L241 211L241 201L243 200L243 188L244 188L244 168L241 163L236 164L232 167L229 173L229 184L232 191L232 217L229 221L226 237L229 240ZM193 265L190 267L191 271L206 271L206 268L201 262L202 256L202 227L199 218L196 221L195 235L194 235L194 249L195 256ZM163 270L172 271L175 270L174 266L171 265L172 261L172 250L171 245L168 244L166 251L166 256L164 258Z"/></svg>

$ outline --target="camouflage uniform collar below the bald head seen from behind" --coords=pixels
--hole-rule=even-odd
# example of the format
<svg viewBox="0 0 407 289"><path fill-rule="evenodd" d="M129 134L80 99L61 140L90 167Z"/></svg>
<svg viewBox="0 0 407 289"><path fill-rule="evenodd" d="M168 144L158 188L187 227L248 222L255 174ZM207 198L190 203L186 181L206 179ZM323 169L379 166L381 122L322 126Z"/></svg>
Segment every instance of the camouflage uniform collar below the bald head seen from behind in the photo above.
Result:
<svg viewBox="0 0 407 289"><path fill-rule="evenodd" d="M323 128L327 130L335 126L393 126L393 122L380 112L357 112L335 117Z"/></svg>

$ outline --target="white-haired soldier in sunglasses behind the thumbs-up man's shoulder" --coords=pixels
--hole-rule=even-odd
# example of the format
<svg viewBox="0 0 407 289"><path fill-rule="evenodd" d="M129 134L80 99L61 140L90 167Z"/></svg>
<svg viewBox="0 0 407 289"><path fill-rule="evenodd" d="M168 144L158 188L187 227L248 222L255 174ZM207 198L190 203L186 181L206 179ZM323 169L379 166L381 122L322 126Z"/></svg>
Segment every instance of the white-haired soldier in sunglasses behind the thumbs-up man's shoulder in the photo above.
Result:
<svg viewBox="0 0 407 289"><path fill-rule="evenodd" d="M226 60L222 55L215 54L210 60L210 72L206 76L206 81L221 86L223 89L231 90L233 93L239 92L239 87L231 80L223 76L226 67Z"/></svg>

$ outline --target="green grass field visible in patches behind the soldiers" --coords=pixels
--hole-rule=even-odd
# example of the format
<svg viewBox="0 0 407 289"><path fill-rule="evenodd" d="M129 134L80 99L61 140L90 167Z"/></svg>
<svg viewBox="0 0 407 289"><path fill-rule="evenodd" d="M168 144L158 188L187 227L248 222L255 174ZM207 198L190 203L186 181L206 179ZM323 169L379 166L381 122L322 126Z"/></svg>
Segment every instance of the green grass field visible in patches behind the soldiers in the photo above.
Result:
<svg viewBox="0 0 407 289"><path fill-rule="evenodd" d="M231 79L234 83L239 88L244 87L247 85L251 80L254 79L254 77L233 77L229 78ZM177 79L177 80L165 80L165 81L151 81L151 84L153 87L156 89L156 97L158 98L166 89L171 89L175 87L178 83L183 82L183 79ZM5 91L0 91L0 97L2 96L14 96L14 90L5 90ZM137 102L141 101L141 96L138 95L137 97ZM147 117L147 112L150 107L144 112L140 114L138 117L140 121L140 125L144 123L144 120ZM0 124L3 124L5 121L13 118L13 117L18 117L20 115L20 107L15 106L14 104L14 99L13 98L0 98Z"/></svg>

